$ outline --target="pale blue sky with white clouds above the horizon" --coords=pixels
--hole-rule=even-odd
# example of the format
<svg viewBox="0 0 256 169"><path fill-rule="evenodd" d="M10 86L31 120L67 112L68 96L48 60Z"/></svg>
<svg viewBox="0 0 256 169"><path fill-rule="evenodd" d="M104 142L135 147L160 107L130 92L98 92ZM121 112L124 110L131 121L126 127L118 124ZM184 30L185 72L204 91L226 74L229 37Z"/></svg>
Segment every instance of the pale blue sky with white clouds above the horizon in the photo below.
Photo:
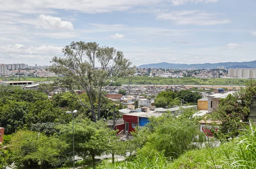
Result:
<svg viewBox="0 0 256 169"><path fill-rule="evenodd" d="M256 60L256 0L0 0L0 63L50 65L72 41L133 65Z"/></svg>

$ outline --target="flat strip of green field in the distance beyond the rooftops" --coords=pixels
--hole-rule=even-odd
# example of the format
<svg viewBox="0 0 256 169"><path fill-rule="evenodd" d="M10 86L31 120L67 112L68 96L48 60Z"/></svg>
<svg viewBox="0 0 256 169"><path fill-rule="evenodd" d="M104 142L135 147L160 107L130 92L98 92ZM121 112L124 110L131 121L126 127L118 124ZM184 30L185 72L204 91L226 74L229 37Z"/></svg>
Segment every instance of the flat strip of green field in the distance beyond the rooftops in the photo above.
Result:
<svg viewBox="0 0 256 169"><path fill-rule="evenodd" d="M31 80L35 82L54 81L60 77L20 77L20 81ZM4 79L4 78L0 78ZM18 78L10 78L8 81L18 81ZM165 78L165 77L123 77L116 80L122 85L236 85L244 86L249 79L206 79L206 78Z"/></svg>

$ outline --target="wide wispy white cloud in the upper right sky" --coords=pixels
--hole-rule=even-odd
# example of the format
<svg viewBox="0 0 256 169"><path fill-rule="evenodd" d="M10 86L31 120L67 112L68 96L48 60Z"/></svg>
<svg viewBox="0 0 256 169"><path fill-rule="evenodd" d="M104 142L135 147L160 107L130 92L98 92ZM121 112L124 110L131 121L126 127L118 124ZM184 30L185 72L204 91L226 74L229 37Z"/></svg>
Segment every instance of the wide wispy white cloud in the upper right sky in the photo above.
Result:
<svg viewBox="0 0 256 169"><path fill-rule="evenodd" d="M174 11L170 13L158 13L156 15L157 20L171 20L176 25L218 25L231 22L228 19L218 19L218 15L222 14L196 10Z"/></svg>

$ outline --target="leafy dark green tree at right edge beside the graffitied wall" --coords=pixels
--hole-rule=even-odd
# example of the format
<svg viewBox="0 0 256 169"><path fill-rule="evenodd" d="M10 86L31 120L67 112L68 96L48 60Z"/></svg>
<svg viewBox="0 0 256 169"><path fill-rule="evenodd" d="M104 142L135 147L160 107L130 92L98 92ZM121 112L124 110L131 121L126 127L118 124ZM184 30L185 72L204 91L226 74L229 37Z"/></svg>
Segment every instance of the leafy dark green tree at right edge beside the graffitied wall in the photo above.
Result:
<svg viewBox="0 0 256 169"><path fill-rule="evenodd" d="M236 137L239 134L239 121L249 121L250 102L256 96L256 80L247 81L246 87L240 91L221 99L218 110L212 114L212 118L221 122L220 132L216 136ZM219 137L221 138L221 137Z"/></svg>

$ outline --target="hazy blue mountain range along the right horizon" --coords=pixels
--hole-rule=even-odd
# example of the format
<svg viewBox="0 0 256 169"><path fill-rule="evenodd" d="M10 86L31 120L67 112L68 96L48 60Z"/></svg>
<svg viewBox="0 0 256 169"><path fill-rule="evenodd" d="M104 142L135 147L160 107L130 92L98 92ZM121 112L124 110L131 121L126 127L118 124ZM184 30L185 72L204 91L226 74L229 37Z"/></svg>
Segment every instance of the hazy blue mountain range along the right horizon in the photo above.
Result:
<svg viewBox="0 0 256 169"><path fill-rule="evenodd" d="M256 60L251 62L219 62L219 63L203 63L203 64L177 64L177 63L154 63L147 65L140 65L137 68L163 68L163 69L216 69L218 66L224 66L225 68L256 68Z"/></svg>

